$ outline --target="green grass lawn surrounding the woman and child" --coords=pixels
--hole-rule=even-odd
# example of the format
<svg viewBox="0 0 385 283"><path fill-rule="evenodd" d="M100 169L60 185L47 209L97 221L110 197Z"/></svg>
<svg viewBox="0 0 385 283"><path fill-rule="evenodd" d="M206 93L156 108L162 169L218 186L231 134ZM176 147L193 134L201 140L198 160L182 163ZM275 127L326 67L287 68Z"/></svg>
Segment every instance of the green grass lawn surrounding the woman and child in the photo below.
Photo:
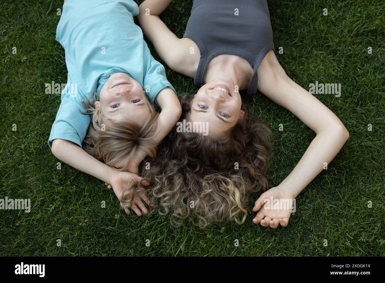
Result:
<svg viewBox="0 0 385 283"><path fill-rule="evenodd" d="M189 221L174 228L169 216L156 211L127 216L101 181L64 163L56 169L58 160L47 140L60 95L45 94L44 84L67 79L64 50L55 41L56 9L62 2L1 1L0 198L30 198L32 211L0 210L0 256L384 256L385 4L312 2L269 1L276 55L305 89L316 80L341 83L341 97L316 97L341 119L350 138L298 196L288 227L253 224L251 200L251 215L243 225L217 223L201 230ZM162 16L178 36L191 5L175 0ZM323 8L328 16L322 15ZM280 46L283 54L278 54ZM178 92L196 91L192 79L166 69ZM315 134L262 94L244 101L274 132L268 180L276 186ZM285 125L283 132L279 124Z"/></svg>

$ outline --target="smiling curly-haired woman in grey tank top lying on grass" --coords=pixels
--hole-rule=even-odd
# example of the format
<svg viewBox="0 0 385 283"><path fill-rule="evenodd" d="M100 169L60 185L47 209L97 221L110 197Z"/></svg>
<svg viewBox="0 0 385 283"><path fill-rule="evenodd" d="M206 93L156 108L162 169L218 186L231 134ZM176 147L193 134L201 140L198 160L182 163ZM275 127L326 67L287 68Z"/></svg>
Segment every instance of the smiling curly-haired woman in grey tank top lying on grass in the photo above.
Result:
<svg viewBox="0 0 385 283"><path fill-rule="evenodd" d="M293 82L279 64L273 52L266 0L194 0L181 39L159 18L170 3L171 0L144 1L139 7L138 20L161 59L172 70L193 78L200 87L192 99L182 101L181 119L207 122L209 135L189 133L187 137L186 133L176 133L176 142L172 141L174 148L164 160L169 159L169 167L179 166L179 173L177 169L167 168L163 173L153 169L155 174L162 174L162 178L157 178L157 189L152 192L161 198L164 208L171 203L169 200L176 201L176 209L180 211L173 216L177 217L196 214L196 206L189 208L191 201L205 202L204 196L212 193L204 208L198 209L196 216L203 218L201 226L224 220L220 217L224 213L228 219L234 211L247 214L242 203L252 191L250 186L264 189L267 184L263 169L269 142L263 134L266 132L264 127L252 124L256 123L255 119L244 112L238 90L247 89L247 94L253 95L258 89L316 132L293 171L278 186L265 191L253 208L258 211L254 223L271 228L277 228L279 224L287 226L290 209L268 209L263 206L265 200L294 199L322 171L324 162L329 163L336 156L349 137L348 131L333 112ZM248 134L253 127L253 134ZM184 163L175 163L175 151L184 154ZM243 172L233 170L228 173L238 160L244 161L239 163ZM183 166L191 174L184 173ZM225 179L221 179L223 174ZM233 178L228 178L229 175ZM239 179L244 179L244 183ZM194 186L172 188L172 184L181 186L183 181L194 183ZM161 183L166 184L167 189L161 188ZM197 188L198 183L201 185ZM194 189L198 190L199 196L194 196ZM221 194L226 196L217 198ZM226 209L218 208L222 205L219 201L224 202ZM242 223L244 219L245 216L237 222Z"/></svg>

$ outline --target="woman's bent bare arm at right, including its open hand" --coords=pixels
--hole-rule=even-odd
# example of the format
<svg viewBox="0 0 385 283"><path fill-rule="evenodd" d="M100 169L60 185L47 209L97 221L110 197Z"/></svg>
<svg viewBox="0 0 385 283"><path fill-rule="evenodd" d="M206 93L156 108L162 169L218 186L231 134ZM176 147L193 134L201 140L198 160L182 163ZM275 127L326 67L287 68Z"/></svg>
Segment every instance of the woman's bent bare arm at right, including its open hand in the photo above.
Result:
<svg viewBox="0 0 385 283"><path fill-rule="evenodd" d="M254 223L271 228L286 227L291 209L295 208L294 199L323 170L324 162L329 163L336 156L349 132L333 112L286 75L273 51L266 55L257 72L258 89L316 132L293 171L278 186L261 194L253 208L254 212L258 211ZM275 207L277 200L280 200L279 207ZM286 201L290 202L289 207L281 207Z"/></svg>

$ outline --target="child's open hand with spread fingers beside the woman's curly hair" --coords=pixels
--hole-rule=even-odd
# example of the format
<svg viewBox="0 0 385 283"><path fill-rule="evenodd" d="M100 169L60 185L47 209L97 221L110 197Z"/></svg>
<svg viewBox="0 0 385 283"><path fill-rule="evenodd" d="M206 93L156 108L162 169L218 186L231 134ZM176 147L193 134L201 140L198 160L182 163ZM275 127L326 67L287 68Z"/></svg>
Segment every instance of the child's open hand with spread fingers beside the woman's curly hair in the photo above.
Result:
<svg viewBox="0 0 385 283"><path fill-rule="evenodd" d="M133 185L139 183L142 179L143 178L131 172L117 171L117 173L110 179L110 184L108 185L108 188L112 188L119 201L122 201L122 196L124 192L127 191L127 189L132 188ZM149 183L147 181L143 181L142 184L144 186L149 186ZM139 208L144 214L148 213L148 210L146 206L144 206L144 204L142 203L142 200L145 201L149 206L151 205L151 202L146 195L134 196L134 199L132 200L131 209L138 216L142 215ZM130 213L127 208L124 208L124 211L126 211L127 214Z"/></svg>

